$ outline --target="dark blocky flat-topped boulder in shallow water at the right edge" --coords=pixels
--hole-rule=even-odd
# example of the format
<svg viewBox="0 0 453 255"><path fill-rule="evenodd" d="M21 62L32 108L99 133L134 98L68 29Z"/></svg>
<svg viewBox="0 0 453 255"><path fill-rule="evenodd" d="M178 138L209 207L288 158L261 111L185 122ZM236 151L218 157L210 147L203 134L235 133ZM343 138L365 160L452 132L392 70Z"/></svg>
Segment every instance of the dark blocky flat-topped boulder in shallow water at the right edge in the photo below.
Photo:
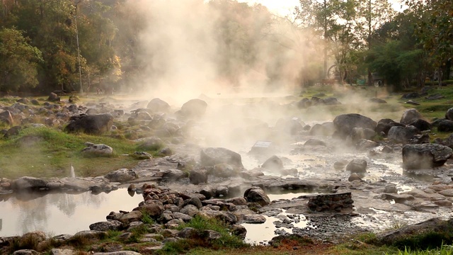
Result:
<svg viewBox="0 0 453 255"><path fill-rule="evenodd" d="M404 145L403 166L406 169L430 169L445 164L452 154L453 150L444 145Z"/></svg>

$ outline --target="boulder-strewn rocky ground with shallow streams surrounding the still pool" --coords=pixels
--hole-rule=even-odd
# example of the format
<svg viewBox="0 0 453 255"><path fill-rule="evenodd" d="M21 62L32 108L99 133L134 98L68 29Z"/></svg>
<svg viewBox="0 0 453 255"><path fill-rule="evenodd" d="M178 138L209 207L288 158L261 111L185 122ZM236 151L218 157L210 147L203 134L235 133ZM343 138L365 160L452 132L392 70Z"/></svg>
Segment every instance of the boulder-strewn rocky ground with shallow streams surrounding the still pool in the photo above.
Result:
<svg viewBox="0 0 453 255"><path fill-rule="evenodd" d="M297 112L319 104L340 103L336 98L318 99L304 98L284 105L265 103L263 107L272 113L283 113L288 108ZM42 123L46 124L37 125L61 122L66 132L101 135L116 128L113 120L122 121L130 127L140 127L138 131L125 130L134 132L132 137L143 137L140 140L149 146L164 140L168 147L164 150L167 156L159 158L137 152L149 159L132 169L118 169L105 176L1 179L1 192L13 196L16 192L35 189L103 192L127 187L142 193L144 202L138 208L122 208L125 211L113 212L107 215L107 221L91 225L90 231L61 238L97 237L110 229L122 231L121 236L127 239L131 229L147 224L142 220L142 213L147 212L155 224L147 226L154 229L152 234L139 241L152 243L141 250L144 253L161 249L166 242L193 236L193 230L173 231L173 227L195 215L229 222L231 233L240 237L246 237L241 224L260 224L266 220L264 216L273 217L278 219L273 222L275 234L292 232L320 242L336 242L345 235L389 230L434 217L445 220L451 217L452 143L450 138L437 140L436 144L426 142L434 126L443 127L452 120L428 123L415 109L405 111L399 122L389 119L376 122L363 115L344 114L325 123L304 123L301 118L283 115L274 126L262 125L260 120L243 127L231 124L226 128L235 130L231 134L222 132L224 123L213 123L207 117L224 113L227 106L229 111L237 113L252 111L260 105L233 104L210 113L206 111L208 103L200 99L189 101L174 115L169 114L171 106L158 98L150 101L147 108L108 103L93 107L71 103L30 106L27 102L3 106L6 122L14 123L21 116L23 123L29 123L31 117L36 120L38 113L45 111L47 116L42 117ZM56 108L57 113L50 111ZM259 117L258 112L253 115ZM220 132L207 134L207 129L216 130L215 127ZM20 130L13 129L5 130L4 134L11 136ZM212 142L212 137L217 140ZM244 141L243 137L248 139ZM257 137L266 140L246 146ZM218 145L224 140L242 140L242 143L232 146L237 152L226 147L205 146ZM96 146L94 153L108 151L104 146ZM295 195L275 201L266 195L287 192ZM297 225L301 220L306 222L304 227ZM204 236L219 238L214 232ZM11 246L11 240L17 238L2 237L0 247ZM45 240L43 237L41 242ZM115 249L122 247L111 251Z"/></svg>

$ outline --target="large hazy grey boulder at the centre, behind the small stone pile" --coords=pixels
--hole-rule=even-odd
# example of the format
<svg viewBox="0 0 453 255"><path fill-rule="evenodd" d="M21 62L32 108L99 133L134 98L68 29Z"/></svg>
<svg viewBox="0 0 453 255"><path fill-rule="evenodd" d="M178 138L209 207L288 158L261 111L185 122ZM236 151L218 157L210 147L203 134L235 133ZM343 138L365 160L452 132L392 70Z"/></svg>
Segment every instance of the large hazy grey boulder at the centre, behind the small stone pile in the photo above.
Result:
<svg viewBox="0 0 453 255"><path fill-rule="evenodd" d="M202 149L200 152L200 163L202 166L215 166L216 164L226 163L243 168L241 155L222 147Z"/></svg>

